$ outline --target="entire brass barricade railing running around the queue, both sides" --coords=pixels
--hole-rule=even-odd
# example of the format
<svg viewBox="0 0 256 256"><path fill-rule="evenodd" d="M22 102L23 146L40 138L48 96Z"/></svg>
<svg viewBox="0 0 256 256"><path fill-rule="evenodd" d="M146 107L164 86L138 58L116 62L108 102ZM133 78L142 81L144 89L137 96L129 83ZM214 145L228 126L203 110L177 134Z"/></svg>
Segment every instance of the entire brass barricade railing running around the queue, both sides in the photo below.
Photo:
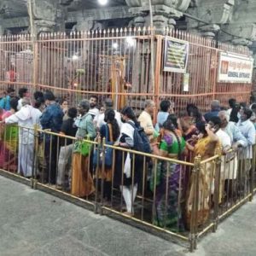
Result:
<svg viewBox="0 0 256 256"><path fill-rule="evenodd" d="M250 151L251 150L251 151ZM1 174L22 177L96 213L189 242L255 192L255 146L193 163L78 140L38 127L1 125ZM127 160L128 159L128 160Z"/></svg>

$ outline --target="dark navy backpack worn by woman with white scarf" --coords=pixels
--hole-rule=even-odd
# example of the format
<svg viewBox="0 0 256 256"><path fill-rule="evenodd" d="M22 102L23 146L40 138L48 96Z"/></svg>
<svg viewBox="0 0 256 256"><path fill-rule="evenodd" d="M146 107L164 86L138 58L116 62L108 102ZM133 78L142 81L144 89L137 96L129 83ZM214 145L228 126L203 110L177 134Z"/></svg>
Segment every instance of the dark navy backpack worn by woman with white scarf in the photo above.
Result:
<svg viewBox="0 0 256 256"><path fill-rule="evenodd" d="M141 126L137 127L131 122L128 122L128 124L134 128L134 135L133 135L134 146L132 149L139 152L151 154L152 150L150 147L148 136L146 135L144 129Z"/></svg>

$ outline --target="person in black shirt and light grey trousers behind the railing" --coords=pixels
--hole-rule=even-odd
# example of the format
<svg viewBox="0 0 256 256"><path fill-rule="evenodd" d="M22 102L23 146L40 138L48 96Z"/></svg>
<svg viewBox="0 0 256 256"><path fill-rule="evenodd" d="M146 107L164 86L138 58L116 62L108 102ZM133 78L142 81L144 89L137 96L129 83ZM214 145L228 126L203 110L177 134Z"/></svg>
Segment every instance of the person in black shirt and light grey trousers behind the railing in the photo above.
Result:
<svg viewBox="0 0 256 256"><path fill-rule="evenodd" d="M67 119L61 125L61 135L75 137L78 128L74 125L74 119L77 117L76 108L69 108ZM62 137L60 139L61 150L58 162L57 188L66 189L70 187L69 179L71 177L71 163L73 152L73 139Z"/></svg>

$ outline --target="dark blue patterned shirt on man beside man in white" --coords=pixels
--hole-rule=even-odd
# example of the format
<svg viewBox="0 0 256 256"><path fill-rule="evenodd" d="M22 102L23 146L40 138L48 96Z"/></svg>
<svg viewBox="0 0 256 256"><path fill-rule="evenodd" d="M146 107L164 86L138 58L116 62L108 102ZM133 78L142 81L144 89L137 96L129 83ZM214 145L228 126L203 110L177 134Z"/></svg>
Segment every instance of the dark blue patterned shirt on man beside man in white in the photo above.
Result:
<svg viewBox="0 0 256 256"><path fill-rule="evenodd" d="M52 132L59 133L61 131L63 115L63 111L59 104L50 104L45 108L40 119L43 130L50 129Z"/></svg>

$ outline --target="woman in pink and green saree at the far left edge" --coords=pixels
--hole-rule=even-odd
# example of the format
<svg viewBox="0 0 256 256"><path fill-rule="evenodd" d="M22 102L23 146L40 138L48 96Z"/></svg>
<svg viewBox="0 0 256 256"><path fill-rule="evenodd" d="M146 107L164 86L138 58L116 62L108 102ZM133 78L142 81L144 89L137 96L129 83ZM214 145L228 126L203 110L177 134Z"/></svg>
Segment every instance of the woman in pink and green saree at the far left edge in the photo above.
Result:
<svg viewBox="0 0 256 256"><path fill-rule="evenodd" d="M2 120L16 113L18 98L10 101L11 109L2 115ZM1 124L0 142L0 168L8 172L17 172L18 169L18 148L19 148L19 128L16 124Z"/></svg>

